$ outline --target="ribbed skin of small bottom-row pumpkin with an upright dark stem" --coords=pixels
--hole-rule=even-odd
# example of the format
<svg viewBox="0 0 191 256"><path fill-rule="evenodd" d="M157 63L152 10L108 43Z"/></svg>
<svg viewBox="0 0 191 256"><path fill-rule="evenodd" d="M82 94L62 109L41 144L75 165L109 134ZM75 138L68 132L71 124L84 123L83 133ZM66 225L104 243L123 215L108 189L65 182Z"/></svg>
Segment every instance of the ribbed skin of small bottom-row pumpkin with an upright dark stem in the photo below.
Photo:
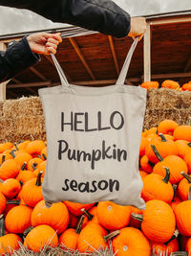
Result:
<svg viewBox="0 0 191 256"><path fill-rule="evenodd" d="M59 245L62 249L76 250L79 234L76 234L74 228L65 230L59 237Z"/></svg>

